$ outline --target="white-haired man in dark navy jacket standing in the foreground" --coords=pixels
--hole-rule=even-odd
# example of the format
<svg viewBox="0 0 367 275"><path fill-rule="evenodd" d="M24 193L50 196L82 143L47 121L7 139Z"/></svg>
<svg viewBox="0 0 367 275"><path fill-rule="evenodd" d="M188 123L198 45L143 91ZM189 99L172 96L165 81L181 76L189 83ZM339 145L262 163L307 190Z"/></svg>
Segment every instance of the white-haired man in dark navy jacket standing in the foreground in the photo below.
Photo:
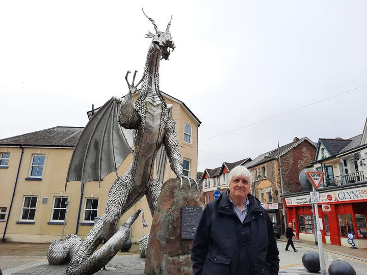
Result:
<svg viewBox="0 0 367 275"><path fill-rule="evenodd" d="M204 209L191 252L195 275L278 274L273 225L250 182L245 167L233 168L229 188Z"/></svg>

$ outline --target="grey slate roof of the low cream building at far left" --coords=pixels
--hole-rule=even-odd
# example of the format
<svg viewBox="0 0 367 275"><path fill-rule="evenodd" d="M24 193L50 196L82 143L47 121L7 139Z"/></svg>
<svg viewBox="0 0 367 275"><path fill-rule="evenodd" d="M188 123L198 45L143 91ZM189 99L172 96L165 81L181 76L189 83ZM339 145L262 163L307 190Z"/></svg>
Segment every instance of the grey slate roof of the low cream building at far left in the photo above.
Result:
<svg viewBox="0 0 367 275"><path fill-rule="evenodd" d="M0 140L7 146L74 147L84 127L57 126Z"/></svg>

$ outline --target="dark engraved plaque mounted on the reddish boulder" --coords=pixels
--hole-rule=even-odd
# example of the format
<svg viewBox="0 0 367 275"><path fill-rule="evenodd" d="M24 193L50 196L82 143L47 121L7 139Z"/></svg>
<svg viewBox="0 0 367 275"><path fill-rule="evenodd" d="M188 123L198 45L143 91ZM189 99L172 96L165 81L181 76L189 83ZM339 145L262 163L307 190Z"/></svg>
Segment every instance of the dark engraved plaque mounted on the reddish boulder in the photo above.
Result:
<svg viewBox="0 0 367 275"><path fill-rule="evenodd" d="M182 206L181 239L193 239L202 213L200 206Z"/></svg>

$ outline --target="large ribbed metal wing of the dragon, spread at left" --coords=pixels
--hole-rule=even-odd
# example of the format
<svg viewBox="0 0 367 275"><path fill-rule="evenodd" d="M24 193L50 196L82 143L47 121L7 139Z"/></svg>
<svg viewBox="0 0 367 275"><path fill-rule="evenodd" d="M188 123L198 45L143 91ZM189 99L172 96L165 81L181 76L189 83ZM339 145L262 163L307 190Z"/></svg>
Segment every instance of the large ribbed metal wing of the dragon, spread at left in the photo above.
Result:
<svg viewBox="0 0 367 275"><path fill-rule="evenodd" d="M84 128L70 159L65 189L73 180L81 181L82 186L93 180L100 184L108 174L117 173L124 159L133 152L127 142L132 140L128 136L132 131L123 131L118 123L119 106L120 102L111 98Z"/></svg>

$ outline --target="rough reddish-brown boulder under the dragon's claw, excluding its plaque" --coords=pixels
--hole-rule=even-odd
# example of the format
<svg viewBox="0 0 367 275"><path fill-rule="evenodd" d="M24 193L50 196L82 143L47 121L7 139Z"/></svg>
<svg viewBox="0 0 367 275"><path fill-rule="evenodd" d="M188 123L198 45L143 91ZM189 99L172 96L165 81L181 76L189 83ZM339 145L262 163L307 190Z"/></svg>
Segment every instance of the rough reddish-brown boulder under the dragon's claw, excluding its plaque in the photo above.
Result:
<svg viewBox="0 0 367 275"><path fill-rule="evenodd" d="M181 239L182 206L199 206L200 190L189 188L186 179L180 189L179 179L172 178L162 185L150 229L145 258L145 274L191 275L193 239Z"/></svg>

